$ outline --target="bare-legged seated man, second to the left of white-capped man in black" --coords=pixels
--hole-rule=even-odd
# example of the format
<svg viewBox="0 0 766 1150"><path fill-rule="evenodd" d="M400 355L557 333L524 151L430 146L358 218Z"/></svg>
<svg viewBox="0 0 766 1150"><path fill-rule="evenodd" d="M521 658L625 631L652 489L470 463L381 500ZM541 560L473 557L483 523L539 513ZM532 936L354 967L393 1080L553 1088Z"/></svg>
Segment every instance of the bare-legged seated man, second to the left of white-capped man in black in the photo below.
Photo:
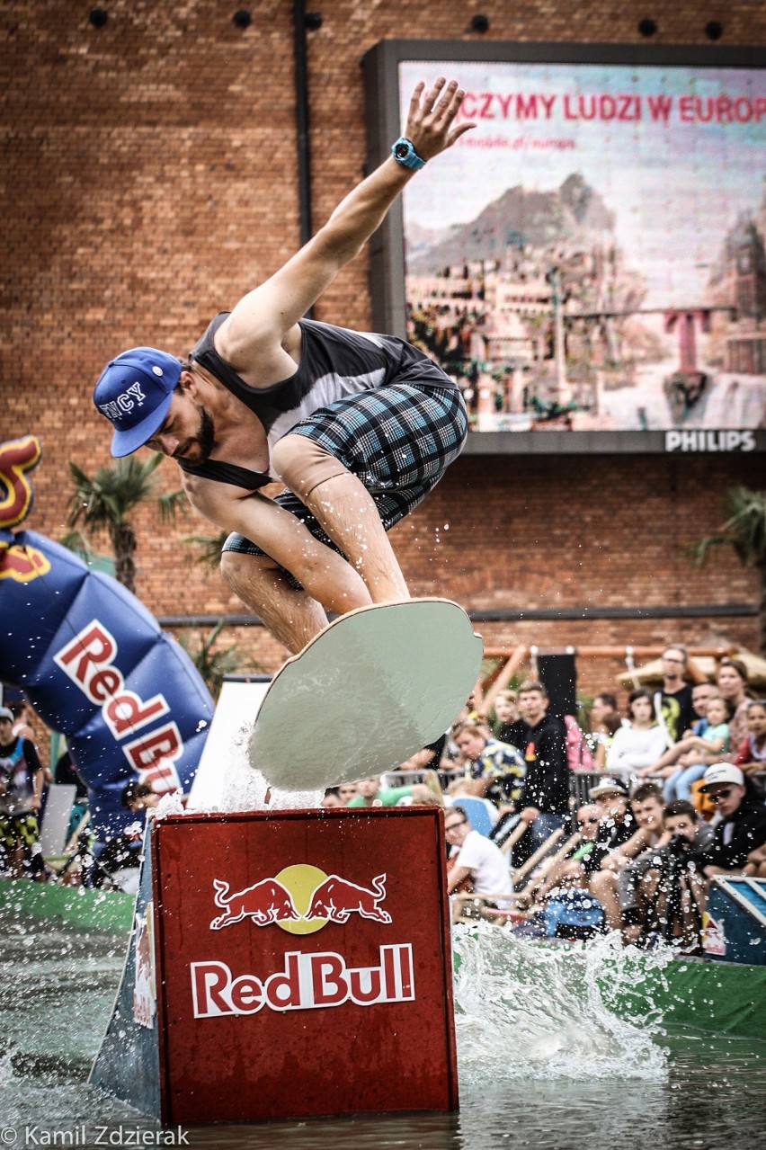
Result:
<svg viewBox="0 0 766 1150"><path fill-rule="evenodd" d="M595 788L598 790L598 788ZM591 791L591 795L593 792ZM610 799L613 802L613 798ZM589 890L604 907L604 921L610 930L620 930L622 919L618 902L618 875L649 846L654 846L662 833L662 792L654 783L642 783L636 788L630 807L634 818L633 833L626 837L625 819L620 834L598 842L589 858ZM598 868L596 866L598 865Z"/></svg>

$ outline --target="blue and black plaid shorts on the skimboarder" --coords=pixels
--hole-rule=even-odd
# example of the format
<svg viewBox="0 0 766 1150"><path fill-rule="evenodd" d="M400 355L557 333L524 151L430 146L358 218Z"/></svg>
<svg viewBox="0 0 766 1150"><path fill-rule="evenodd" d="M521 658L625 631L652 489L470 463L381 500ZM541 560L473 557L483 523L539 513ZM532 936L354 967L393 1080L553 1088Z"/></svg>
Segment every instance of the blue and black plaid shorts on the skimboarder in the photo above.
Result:
<svg viewBox="0 0 766 1150"><path fill-rule="evenodd" d="M290 435L305 435L355 475L375 500L386 531L408 515L458 458L468 434L468 420L458 388L415 388L390 384L362 391L320 407L296 423ZM276 503L305 523L312 535L339 551L308 508L292 491ZM266 554L236 532L224 551ZM300 584L291 576L296 586Z"/></svg>

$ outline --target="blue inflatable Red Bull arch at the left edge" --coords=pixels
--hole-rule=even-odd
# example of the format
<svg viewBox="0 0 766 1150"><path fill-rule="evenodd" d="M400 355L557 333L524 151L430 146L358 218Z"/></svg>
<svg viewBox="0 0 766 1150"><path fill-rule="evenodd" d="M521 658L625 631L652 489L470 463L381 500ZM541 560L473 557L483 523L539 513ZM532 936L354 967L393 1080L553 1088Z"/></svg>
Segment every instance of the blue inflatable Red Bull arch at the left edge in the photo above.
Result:
<svg viewBox="0 0 766 1150"><path fill-rule="evenodd" d="M189 790L213 716L213 700L183 649L116 580L33 531L28 473L40 444L0 445L0 680L23 689L67 743L89 788L100 839L135 813L125 783L158 793Z"/></svg>

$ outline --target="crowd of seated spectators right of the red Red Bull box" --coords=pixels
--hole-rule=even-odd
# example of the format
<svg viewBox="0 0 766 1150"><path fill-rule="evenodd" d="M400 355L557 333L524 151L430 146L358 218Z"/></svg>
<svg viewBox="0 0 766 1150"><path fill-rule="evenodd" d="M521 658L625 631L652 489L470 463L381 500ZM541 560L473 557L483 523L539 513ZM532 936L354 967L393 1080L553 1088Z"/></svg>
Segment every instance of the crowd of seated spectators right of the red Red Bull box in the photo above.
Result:
<svg viewBox="0 0 766 1150"><path fill-rule="evenodd" d="M579 720L557 716L531 680L489 714L472 698L438 764L428 757L438 772L424 795L414 757L407 785L392 772L382 790L366 780L351 802L348 788L325 802L443 805L459 913L543 934L554 921L570 936L582 920L587 934L698 951L713 876L766 877L766 700L752 697L738 659L721 659L713 682L695 680L673 645L661 674L656 690L636 685L625 714L604 691Z"/></svg>

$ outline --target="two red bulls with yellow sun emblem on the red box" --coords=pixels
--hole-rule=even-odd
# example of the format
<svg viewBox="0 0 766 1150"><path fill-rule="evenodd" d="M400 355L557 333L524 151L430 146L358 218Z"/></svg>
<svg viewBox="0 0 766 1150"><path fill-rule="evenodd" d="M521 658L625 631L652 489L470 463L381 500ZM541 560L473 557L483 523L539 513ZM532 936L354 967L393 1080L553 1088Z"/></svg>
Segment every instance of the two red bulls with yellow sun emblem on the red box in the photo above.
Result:
<svg viewBox="0 0 766 1150"><path fill-rule="evenodd" d="M328 922L347 922L352 914L375 922L391 922L381 905L385 900L385 875L376 875L369 887L325 874L319 867L285 867L275 877L262 879L244 890L230 894L228 882L213 880L215 905L223 914L210 922L221 930L244 919L254 926L276 923L290 934L313 934Z"/></svg>

